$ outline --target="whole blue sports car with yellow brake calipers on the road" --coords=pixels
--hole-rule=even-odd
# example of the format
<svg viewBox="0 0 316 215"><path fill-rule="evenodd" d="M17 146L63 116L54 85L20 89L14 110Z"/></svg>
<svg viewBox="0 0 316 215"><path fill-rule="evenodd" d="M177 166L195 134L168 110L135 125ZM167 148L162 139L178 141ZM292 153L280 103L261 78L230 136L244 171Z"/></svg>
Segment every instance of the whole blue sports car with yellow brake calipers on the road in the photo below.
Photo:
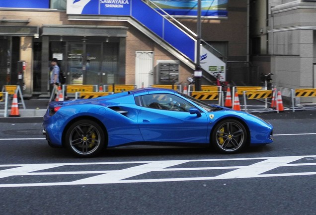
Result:
<svg viewBox="0 0 316 215"><path fill-rule="evenodd" d="M50 146L67 147L79 157L126 144L212 146L236 153L249 144L271 143L272 130L254 115L160 88L51 102L43 122Z"/></svg>

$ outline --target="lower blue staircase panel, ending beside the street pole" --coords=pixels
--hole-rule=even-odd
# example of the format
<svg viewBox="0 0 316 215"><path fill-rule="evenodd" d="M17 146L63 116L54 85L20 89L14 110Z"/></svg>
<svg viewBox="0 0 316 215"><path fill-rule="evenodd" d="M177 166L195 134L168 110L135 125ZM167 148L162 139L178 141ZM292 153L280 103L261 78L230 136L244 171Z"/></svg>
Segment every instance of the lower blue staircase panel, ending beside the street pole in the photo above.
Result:
<svg viewBox="0 0 316 215"><path fill-rule="evenodd" d="M164 23L164 39L194 61L195 41L167 20Z"/></svg>

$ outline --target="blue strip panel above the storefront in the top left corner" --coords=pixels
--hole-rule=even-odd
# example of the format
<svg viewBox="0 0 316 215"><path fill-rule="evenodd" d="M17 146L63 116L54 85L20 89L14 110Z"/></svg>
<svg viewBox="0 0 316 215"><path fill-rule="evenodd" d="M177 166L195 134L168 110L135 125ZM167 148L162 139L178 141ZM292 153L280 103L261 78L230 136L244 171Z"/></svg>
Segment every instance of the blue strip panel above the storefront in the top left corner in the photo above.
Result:
<svg viewBox="0 0 316 215"><path fill-rule="evenodd" d="M0 0L0 7L49 8L49 0Z"/></svg>

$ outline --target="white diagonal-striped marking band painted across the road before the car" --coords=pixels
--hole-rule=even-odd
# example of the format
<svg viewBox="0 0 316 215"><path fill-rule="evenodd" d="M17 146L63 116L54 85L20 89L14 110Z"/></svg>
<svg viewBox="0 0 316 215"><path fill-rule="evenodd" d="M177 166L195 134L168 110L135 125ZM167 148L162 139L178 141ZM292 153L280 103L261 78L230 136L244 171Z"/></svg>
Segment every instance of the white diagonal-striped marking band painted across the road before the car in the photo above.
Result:
<svg viewBox="0 0 316 215"><path fill-rule="evenodd" d="M214 166L208 162L230 164L234 162L251 162L251 164L239 166ZM206 163L207 167L199 167L198 164ZM187 165L190 164L190 165ZM214 163L213 163L214 164ZM104 166L119 165L118 170L109 170ZM124 168L125 165L125 168ZM128 166L128 165L133 165ZM80 171L73 171L71 167L80 166ZM91 166L97 169L91 170ZM187 167L190 166L190 167ZM196 166L196 167L195 167ZM298 167L301 172L268 173L281 167ZM304 171L304 167L315 167L315 171ZM84 170L85 168L88 170ZM302 167L302 168L301 168ZM58 171L63 168L64 171ZM146 183L146 182L171 182L171 181L198 181L198 180L221 180L237 178L262 178L280 176L316 175L316 155L313 156L284 156L284 157L258 157L258 158L234 158L234 159L203 159L203 160L166 160L166 161L137 161L137 162L95 162L95 163L56 163L56 164L6 164L0 165L0 188L4 187L36 187L36 186L62 186L62 185L91 185L91 184L117 184L117 183ZM66 169L66 171L65 171ZM67 171L67 170L72 171ZM190 171L225 170L215 176L187 177L185 173ZM168 177L143 177L146 174L168 172ZM180 176L173 173L180 172ZM183 174L183 175L181 175ZM214 174L214 173L213 173ZM36 180L28 178L27 183L20 183L21 177L71 175L70 181L34 183ZM83 175L83 176L82 176ZM182 177L183 176L183 177ZM82 178L83 177L83 178ZM132 179L137 177L137 179ZM62 177L63 179L63 177ZM58 180L61 180L60 178Z"/></svg>

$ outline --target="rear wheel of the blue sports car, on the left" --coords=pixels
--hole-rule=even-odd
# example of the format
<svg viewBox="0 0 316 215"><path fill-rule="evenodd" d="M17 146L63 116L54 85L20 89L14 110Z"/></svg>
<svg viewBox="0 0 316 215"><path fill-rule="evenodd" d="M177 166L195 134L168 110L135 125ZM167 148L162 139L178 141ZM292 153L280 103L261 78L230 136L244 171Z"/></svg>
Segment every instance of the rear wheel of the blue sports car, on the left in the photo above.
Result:
<svg viewBox="0 0 316 215"><path fill-rule="evenodd" d="M79 120L73 123L66 133L67 148L79 157L95 156L105 147L104 132L92 120Z"/></svg>

